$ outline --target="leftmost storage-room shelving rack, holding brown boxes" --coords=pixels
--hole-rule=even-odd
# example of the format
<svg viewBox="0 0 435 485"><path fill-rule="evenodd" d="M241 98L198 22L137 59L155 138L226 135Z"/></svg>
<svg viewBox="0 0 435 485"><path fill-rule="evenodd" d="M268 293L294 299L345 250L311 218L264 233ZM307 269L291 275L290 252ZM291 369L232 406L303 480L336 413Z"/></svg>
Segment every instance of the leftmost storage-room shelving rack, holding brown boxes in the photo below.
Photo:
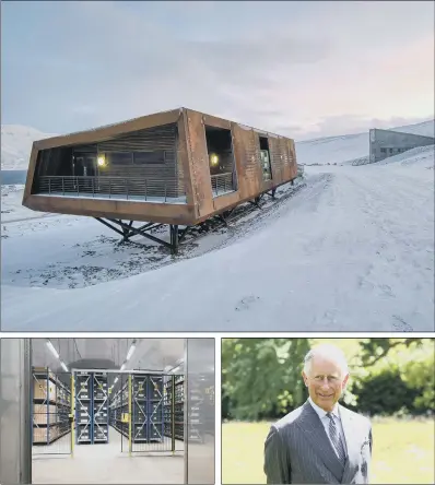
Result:
<svg viewBox="0 0 435 485"><path fill-rule="evenodd" d="M50 445L71 431L71 391L48 367L33 367L32 441Z"/></svg>

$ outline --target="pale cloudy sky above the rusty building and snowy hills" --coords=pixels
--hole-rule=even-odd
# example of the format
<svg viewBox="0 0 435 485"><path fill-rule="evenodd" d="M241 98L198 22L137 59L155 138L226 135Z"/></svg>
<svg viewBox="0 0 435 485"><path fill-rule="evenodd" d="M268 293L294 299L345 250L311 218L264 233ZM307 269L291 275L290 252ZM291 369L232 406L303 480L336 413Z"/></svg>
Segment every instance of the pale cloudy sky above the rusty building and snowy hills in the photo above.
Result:
<svg viewBox="0 0 435 485"><path fill-rule="evenodd" d="M434 114L434 3L2 2L1 122L190 107L308 139Z"/></svg>

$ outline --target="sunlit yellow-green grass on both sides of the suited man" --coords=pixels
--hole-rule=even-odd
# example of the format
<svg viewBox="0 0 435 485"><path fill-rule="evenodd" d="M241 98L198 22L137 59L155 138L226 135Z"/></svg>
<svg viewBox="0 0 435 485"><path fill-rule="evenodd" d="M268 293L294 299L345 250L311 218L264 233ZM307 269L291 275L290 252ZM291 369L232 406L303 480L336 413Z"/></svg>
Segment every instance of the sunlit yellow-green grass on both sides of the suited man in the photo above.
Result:
<svg viewBox="0 0 435 485"><path fill-rule="evenodd" d="M371 483L435 483L434 419L372 419ZM263 484L263 443L269 423L224 423L222 483Z"/></svg>

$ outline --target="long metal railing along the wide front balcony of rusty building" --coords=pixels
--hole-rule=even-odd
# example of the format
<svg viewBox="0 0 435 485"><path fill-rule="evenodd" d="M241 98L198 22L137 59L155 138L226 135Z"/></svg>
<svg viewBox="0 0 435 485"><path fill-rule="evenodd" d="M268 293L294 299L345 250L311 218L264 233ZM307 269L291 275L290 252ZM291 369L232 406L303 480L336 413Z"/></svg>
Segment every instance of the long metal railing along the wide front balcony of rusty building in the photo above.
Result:
<svg viewBox="0 0 435 485"><path fill-rule="evenodd" d="M185 198L179 179L143 177L43 176L37 178L36 193L126 200L168 200Z"/></svg>

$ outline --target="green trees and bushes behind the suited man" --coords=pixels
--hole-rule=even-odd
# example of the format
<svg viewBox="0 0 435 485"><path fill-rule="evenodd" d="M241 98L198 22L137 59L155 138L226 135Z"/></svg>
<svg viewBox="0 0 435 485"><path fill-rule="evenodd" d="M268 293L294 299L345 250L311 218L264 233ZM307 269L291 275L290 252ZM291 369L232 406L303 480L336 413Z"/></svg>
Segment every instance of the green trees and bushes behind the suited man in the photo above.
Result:
<svg viewBox="0 0 435 485"><path fill-rule="evenodd" d="M224 339L223 418L278 418L303 404L302 363L319 343L333 343L348 357L348 407L384 416L434 413L434 339Z"/></svg>

